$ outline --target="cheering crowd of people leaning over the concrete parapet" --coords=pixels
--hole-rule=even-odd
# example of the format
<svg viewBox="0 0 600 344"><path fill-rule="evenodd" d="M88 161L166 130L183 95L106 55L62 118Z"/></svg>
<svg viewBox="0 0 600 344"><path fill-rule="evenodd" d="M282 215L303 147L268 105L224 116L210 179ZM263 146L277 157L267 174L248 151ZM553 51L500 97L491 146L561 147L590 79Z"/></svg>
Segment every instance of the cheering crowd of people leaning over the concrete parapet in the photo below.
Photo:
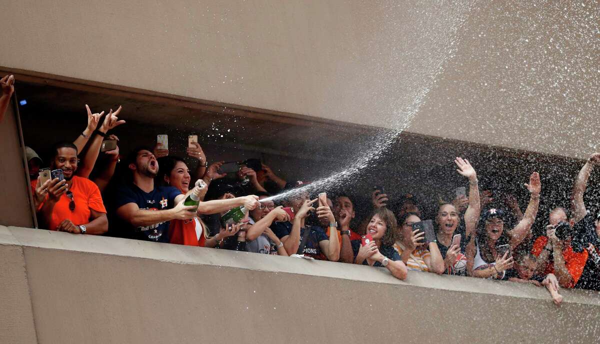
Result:
<svg viewBox="0 0 600 344"><path fill-rule="evenodd" d="M13 82L12 76L2 78L0 106ZM359 218L350 193L332 195L286 181L257 159L228 175L221 170L224 161L209 163L197 142L189 143L185 157L158 143L133 149L123 161L118 145L101 153L103 142L118 140L111 131L125 125L121 110L105 115L86 105L85 130L56 143L45 164L26 148L40 228L370 265L401 280L420 271L530 283L547 288L556 304L560 288L600 290L600 213L583 201L599 153L577 175L572 207L556 207L547 219L538 216L538 172L523 176L529 192L523 212L515 199L500 202L480 190L476 168L461 157L454 167L468 187L458 188L453 199L440 198L435 211L427 212L416 195L374 187L370 215ZM190 158L196 166L188 166ZM43 166L61 170L64 178L42 181ZM317 197L321 193L326 195ZM188 199L198 202L186 205ZM230 211L242 216L222 221ZM536 221L545 225L537 238Z"/></svg>

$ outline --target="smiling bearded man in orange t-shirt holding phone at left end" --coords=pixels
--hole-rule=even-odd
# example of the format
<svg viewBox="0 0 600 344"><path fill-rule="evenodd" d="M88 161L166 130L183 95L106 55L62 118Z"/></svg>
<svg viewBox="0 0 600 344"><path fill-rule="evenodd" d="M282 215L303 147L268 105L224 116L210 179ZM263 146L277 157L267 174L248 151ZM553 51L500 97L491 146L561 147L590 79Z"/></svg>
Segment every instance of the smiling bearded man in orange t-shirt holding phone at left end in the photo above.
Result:
<svg viewBox="0 0 600 344"><path fill-rule="evenodd" d="M40 210L46 228L77 234L106 233L108 220L100 190L94 182L75 175L79 163L77 146L61 142L53 152L50 167L62 170L64 180L54 178L46 189L36 190L46 194Z"/></svg>

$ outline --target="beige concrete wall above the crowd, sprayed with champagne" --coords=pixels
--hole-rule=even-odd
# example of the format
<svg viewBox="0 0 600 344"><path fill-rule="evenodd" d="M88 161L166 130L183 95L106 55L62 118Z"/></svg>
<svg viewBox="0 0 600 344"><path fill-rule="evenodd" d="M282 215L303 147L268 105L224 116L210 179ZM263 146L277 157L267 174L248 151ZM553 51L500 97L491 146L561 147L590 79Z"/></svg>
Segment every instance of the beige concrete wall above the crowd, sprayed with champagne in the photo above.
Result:
<svg viewBox="0 0 600 344"><path fill-rule="evenodd" d="M597 148L597 3L1 6L7 68L382 127L401 118L416 133L572 157Z"/></svg>

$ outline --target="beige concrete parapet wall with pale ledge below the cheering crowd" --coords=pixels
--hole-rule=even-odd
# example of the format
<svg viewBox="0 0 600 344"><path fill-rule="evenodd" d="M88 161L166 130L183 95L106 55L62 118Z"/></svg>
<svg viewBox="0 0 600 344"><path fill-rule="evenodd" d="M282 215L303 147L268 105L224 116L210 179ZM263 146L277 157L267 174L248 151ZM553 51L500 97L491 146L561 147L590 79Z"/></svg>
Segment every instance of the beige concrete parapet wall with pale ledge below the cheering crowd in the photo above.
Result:
<svg viewBox="0 0 600 344"><path fill-rule="evenodd" d="M597 292L563 291L557 308L544 289L508 282L425 273L400 282L358 265L1 233L0 255L24 253L39 343L592 343L600 334ZM0 324L11 320L4 308Z"/></svg>

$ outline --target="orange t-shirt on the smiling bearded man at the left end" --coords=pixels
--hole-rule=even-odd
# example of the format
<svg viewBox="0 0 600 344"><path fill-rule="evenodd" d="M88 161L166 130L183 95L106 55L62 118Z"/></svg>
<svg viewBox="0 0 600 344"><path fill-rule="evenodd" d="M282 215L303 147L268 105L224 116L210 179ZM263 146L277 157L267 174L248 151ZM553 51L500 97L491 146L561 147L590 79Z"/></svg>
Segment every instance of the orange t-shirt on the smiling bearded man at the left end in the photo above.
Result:
<svg viewBox="0 0 600 344"><path fill-rule="evenodd" d="M75 210L69 209L69 202L71 201L66 193L63 193L61 198L54 205L52 210L52 217L48 226L50 231L56 231L56 227L64 221L71 220L74 225L85 225L89 223L89 217L91 216L91 209L100 213L106 214L106 208L104 208L104 202L102 202L102 196L100 195L100 189L94 184L93 181L88 178L73 176L73 184L70 189L73 193L73 201L75 202ZM31 186L35 190L37 180L32 181ZM46 196L47 199L48 196Z"/></svg>

